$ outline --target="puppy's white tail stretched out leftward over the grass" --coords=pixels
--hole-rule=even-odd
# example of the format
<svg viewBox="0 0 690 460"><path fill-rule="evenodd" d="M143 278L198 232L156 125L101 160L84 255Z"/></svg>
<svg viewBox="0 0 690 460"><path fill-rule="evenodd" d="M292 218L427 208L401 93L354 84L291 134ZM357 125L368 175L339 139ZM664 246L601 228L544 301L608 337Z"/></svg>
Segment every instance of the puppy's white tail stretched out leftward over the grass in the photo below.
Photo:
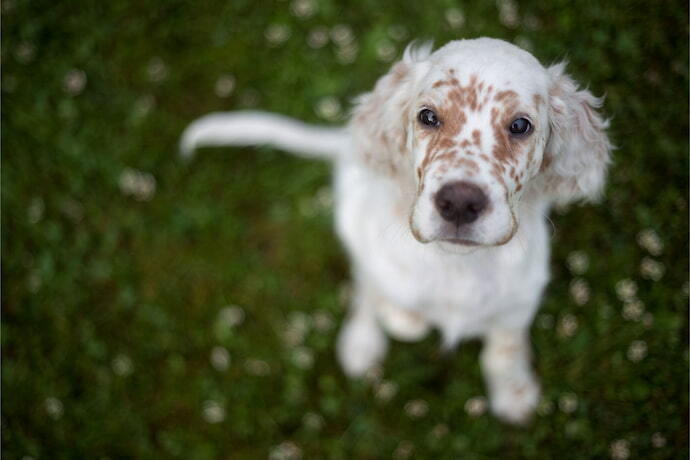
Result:
<svg viewBox="0 0 690 460"><path fill-rule="evenodd" d="M190 158L198 147L270 145L299 156L332 158L347 142L345 128L310 126L266 112L217 112L187 126L180 154Z"/></svg>

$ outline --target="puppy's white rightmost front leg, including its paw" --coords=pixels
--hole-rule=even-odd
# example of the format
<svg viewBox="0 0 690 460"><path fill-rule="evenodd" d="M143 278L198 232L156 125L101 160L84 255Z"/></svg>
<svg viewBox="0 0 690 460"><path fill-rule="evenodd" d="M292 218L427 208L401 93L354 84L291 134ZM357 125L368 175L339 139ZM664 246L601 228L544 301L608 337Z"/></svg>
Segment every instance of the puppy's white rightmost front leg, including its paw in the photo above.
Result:
<svg viewBox="0 0 690 460"><path fill-rule="evenodd" d="M482 372L491 410L510 423L529 420L539 401L527 329L492 329L484 337Z"/></svg>

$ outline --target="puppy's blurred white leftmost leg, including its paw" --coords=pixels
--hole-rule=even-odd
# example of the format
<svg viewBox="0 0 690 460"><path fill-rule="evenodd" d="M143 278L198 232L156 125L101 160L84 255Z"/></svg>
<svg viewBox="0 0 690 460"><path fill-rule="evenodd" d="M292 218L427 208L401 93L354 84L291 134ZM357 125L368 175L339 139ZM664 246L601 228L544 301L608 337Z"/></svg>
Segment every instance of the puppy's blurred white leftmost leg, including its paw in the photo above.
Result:
<svg viewBox="0 0 690 460"><path fill-rule="evenodd" d="M356 282L350 314L338 336L338 360L350 377L360 377L383 360L388 340L376 319L376 291Z"/></svg>

